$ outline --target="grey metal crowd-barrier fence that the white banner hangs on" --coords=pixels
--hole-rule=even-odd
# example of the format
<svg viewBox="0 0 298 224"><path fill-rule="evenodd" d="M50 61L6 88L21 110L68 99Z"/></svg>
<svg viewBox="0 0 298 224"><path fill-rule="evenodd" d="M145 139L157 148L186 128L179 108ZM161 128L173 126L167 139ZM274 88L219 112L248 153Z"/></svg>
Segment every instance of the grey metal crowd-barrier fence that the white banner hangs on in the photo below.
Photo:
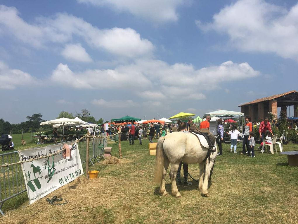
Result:
<svg viewBox="0 0 298 224"><path fill-rule="evenodd" d="M89 161L94 166L94 162L99 162L104 154L104 141L102 138L90 138L89 141ZM71 142L66 142L71 143ZM86 139L78 142L79 152L82 163L86 162ZM104 158L104 157L103 157ZM104 158L105 159L105 158ZM93 161L92 161L93 160ZM20 161L18 151L0 154L0 164L14 163ZM0 214L4 216L1 210L5 201L26 192L23 171L21 165L11 165L9 168L0 170Z"/></svg>

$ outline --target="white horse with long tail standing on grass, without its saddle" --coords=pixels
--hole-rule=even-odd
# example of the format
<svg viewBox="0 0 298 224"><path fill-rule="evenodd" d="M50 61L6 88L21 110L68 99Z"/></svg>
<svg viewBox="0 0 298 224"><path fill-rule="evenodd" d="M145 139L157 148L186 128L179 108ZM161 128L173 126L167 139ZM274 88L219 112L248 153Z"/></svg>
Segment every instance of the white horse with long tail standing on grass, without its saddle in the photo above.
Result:
<svg viewBox="0 0 298 224"><path fill-rule="evenodd" d="M212 134L209 132L209 135ZM211 152L210 157L204 161L207 156L208 148L203 147L194 134L172 132L159 138L156 146L154 182L160 184L159 193L161 195L167 195L164 177L167 174L169 163L171 163L170 179L172 182L172 195L178 198L181 197L176 185L176 175L179 163L182 161L188 164L199 163L199 191L201 191L202 195L209 197L207 190L208 181L217 156L215 138L212 135L210 139L212 139L212 143L215 144L215 152Z"/></svg>

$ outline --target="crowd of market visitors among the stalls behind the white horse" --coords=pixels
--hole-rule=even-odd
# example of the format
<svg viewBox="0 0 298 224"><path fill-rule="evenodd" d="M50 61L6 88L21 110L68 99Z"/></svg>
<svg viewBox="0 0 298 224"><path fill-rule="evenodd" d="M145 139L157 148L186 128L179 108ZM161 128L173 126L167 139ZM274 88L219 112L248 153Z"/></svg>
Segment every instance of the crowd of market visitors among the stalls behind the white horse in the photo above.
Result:
<svg viewBox="0 0 298 224"><path fill-rule="evenodd" d="M167 134L167 130L171 133L173 130L177 131L183 131L188 132L191 125L197 126L199 129L210 129L210 116L206 116L205 120L202 121L199 125L193 124L192 120L188 120L188 122L181 122L178 121L177 123L173 124L161 124L160 122L153 124L150 123L148 126L144 127L142 124L131 122L131 125L122 125L121 126L121 132L124 133L123 139L121 140L129 140L129 145L134 145L135 139L139 140L139 144L142 145L142 137L144 135L144 132L146 132L149 129L148 133L148 140L150 143L153 143L153 138L159 138L161 136L165 136ZM185 124L185 128L184 128ZM261 139L261 142L263 143L263 139L265 139L266 144L271 144L271 137L273 136L272 132L272 126L279 127L279 124L277 121L273 120L272 124L269 122L268 118L266 117L262 122L251 122L251 117L246 116L245 117L245 125L243 127L243 130L238 130L235 125L231 125L231 131L224 131L224 125L222 119L217 119L217 145L218 145L218 155L223 154L223 148L222 143L224 142L224 133L228 134L230 136L231 140L231 146L230 151L232 153L237 153L237 140L240 138L243 138L242 140L242 151L241 155L247 155L249 157L255 157L254 148L256 146L255 137L253 128L258 128L259 136ZM146 124L147 125L147 124ZM180 126L179 126L180 125ZM181 126L182 125L182 126ZM144 130L145 128L145 130ZM92 129L92 128L90 128ZM111 135L112 133L117 133L118 126L109 126L107 130L105 130L105 125L102 125L101 128L96 129L96 134L102 134L106 133L106 135ZM241 132L242 131L242 132ZM92 134L92 130L89 131ZM127 133L127 136L125 135ZM261 149L262 144L259 149Z"/></svg>

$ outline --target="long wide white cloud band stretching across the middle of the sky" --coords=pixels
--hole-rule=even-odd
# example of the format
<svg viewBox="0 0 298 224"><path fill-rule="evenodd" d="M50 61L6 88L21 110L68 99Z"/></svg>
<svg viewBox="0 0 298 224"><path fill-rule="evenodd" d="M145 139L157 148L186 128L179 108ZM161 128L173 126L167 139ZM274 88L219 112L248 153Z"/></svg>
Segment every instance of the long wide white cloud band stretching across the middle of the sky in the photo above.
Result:
<svg viewBox="0 0 298 224"><path fill-rule="evenodd" d="M249 79L260 74L248 63L224 62L221 65L195 69L192 65L169 65L153 59L140 59L115 69L72 71L68 65L59 64L50 79L55 84L73 88L114 89L122 88L127 93L146 100L159 100L166 104L168 100L206 99L206 93L218 88L224 82ZM112 85L103 85L111 83ZM135 88L127 88L133 83L142 86L139 93Z"/></svg>

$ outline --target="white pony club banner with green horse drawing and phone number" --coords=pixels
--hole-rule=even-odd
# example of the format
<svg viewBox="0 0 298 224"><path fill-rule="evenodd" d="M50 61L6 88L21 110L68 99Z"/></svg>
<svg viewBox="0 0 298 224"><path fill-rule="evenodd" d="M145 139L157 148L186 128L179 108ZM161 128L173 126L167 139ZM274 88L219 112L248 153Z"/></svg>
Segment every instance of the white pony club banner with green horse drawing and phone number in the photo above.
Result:
<svg viewBox="0 0 298 224"><path fill-rule="evenodd" d="M70 143L66 143L70 144ZM31 148L18 151L21 161L53 154L62 149L62 144L48 145L44 148ZM67 158L67 157L66 157ZM62 151L57 155L37 159L22 164L29 202L45 197L52 191L75 180L83 174L83 167L77 143L71 149L71 158L64 159Z"/></svg>

